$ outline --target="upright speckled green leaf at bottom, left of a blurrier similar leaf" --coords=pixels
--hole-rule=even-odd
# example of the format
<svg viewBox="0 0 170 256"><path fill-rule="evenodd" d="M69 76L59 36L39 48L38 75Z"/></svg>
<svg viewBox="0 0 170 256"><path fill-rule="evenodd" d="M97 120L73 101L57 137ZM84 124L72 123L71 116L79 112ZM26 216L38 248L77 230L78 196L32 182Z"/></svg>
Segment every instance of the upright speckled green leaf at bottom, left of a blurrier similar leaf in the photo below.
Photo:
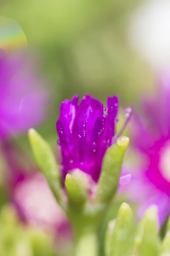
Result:
<svg viewBox="0 0 170 256"><path fill-rule="evenodd" d="M130 206L123 203L117 215L111 240L110 256L132 256L134 249L135 225Z"/></svg>

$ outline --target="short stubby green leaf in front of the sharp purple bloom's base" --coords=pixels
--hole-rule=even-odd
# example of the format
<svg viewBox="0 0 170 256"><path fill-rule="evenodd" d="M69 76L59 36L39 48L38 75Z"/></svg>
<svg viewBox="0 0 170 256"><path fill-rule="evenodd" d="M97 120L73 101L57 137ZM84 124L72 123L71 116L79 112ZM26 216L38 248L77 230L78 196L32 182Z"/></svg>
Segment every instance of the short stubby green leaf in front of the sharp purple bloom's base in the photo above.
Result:
<svg viewBox="0 0 170 256"><path fill-rule="evenodd" d="M67 195L73 203L84 203L88 196L88 177L85 173L76 169L65 177Z"/></svg>

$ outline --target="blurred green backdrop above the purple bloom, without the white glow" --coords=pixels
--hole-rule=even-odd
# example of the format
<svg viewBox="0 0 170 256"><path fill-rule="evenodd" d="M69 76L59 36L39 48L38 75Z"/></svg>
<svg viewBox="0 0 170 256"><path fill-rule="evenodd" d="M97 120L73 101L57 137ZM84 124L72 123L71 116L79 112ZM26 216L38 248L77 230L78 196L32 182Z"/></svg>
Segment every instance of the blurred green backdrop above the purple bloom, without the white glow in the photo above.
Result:
<svg viewBox="0 0 170 256"><path fill-rule="evenodd" d="M53 104L39 131L56 143L59 104L74 94L103 102L119 94L121 105L136 105L153 89L151 67L127 41L128 19L142 0L6 0L0 15L13 18L29 47L42 59Z"/></svg>

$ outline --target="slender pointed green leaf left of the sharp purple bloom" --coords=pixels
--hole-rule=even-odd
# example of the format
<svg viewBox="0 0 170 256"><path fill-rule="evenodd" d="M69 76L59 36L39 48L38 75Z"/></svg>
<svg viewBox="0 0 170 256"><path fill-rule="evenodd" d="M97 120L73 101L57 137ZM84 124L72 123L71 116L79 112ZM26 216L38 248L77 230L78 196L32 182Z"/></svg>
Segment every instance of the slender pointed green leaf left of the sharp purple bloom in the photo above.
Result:
<svg viewBox="0 0 170 256"><path fill-rule="evenodd" d="M59 166L50 145L32 128L28 131L28 138L37 166L48 181L58 203L63 207Z"/></svg>

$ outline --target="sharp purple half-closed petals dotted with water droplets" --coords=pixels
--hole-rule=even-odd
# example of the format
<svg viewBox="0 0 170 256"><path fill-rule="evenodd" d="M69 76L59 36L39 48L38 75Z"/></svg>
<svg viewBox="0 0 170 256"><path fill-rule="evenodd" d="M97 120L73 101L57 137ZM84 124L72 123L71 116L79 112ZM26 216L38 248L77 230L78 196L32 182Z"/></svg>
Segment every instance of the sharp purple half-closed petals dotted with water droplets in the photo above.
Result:
<svg viewBox="0 0 170 256"><path fill-rule="evenodd" d="M117 96L108 97L107 111L91 96L84 96L79 105L78 96L62 102L56 128L64 178L68 171L79 168L95 182L98 180L103 156L116 141L118 107ZM130 112L129 108L127 119Z"/></svg>

